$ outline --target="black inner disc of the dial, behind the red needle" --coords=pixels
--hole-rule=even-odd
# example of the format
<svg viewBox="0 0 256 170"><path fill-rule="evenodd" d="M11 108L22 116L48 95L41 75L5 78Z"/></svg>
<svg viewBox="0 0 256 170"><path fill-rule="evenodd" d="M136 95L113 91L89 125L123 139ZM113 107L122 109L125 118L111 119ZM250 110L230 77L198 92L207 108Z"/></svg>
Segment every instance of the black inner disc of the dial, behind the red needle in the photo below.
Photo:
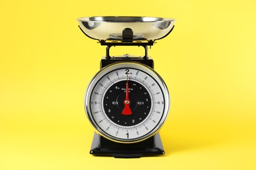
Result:
<svg viewBox="0 0 256 170"><path fill-rule="evenodd" d="M124 103L127 96L127 80L113 84L108 88L103 99L106 116L120 126L134 126L139 124L148 116L151 109L151 98L148 90L142 84L133 80L128 80L128 84L129 104L126 107L131 109L129 115L123 114L124 110L127 109Z"/></svg>

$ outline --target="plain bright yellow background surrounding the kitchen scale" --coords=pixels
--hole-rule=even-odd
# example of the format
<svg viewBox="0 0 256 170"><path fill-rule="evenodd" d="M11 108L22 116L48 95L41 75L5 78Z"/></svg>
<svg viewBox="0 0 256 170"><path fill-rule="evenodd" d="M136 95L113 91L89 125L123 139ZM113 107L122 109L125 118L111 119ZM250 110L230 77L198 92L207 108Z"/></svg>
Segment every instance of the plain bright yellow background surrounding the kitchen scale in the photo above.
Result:
<svg viewBox="0 0 256 170"><path fill-rule="evenodd" d="M255 9L255 0L1 0L0 169L256 169ZM82 16L177 19L149 50L171 95L165 156L89 154L83 95L105 47L78 29Z"/></svg>

